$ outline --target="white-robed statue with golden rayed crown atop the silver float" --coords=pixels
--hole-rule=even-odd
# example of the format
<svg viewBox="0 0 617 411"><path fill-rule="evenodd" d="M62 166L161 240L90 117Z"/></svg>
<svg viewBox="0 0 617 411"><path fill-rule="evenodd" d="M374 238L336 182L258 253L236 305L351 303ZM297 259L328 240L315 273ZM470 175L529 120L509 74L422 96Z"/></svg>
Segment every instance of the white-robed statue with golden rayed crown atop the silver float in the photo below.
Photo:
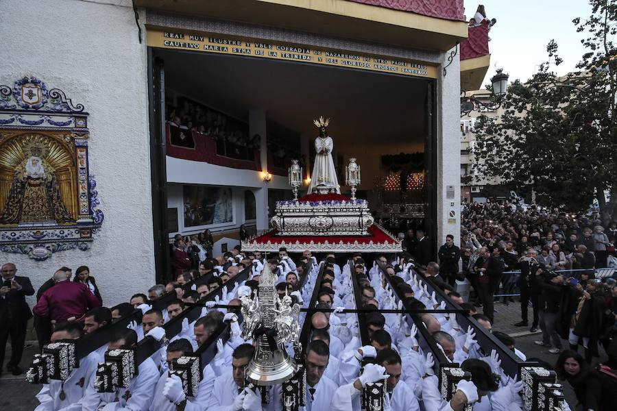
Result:
<svg viewBox="0 0 617 411"><path fill-rule="evenodd" d="M317 155L315 155L315 164L313 164L309 194L313 192L319 194L336 192L341 194L337 171L334 166L334 160L332 160L334 143L326 131L330 119L324 120L323 117L319 117L319 120L315 120L313 123L319 128L319 136L315 138L315 152Z"/></svg>

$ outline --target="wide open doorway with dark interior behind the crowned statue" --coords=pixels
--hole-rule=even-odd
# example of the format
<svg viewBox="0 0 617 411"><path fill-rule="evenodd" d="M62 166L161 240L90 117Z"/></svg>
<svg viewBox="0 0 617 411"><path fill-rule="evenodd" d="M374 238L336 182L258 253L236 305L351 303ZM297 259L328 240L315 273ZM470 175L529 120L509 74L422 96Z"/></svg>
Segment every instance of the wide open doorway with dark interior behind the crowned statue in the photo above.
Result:
<svg viewBox="0 0 617 411"><path fill-rule="evenodd" d="M345 166L355 158L362 175L356 197L369 201L378 223L395 235L423 227L436 236L434 79L152 47L149 57L151 103L160 108L153 114L157 135L152 138L158 140L155 147L165 143L165 151L153 153L153 168L161 173L153 176L159 198L167 200L167 184L182 183L182 169L187 184L265 187L264 207L271 212L273 201L293 197L287 184L291 160L302 166L300 195L306 193L319 132L313 119L324 116L330 119L341 194L350 195L343 185ZM227 172L200 173L202 163ZM259 202L260 197L257 210ZM169 214L162 211L155 227L160 225L158 241L167 246L173 233L166 226ZM240 214L222 229L245 223Z"/></svg>

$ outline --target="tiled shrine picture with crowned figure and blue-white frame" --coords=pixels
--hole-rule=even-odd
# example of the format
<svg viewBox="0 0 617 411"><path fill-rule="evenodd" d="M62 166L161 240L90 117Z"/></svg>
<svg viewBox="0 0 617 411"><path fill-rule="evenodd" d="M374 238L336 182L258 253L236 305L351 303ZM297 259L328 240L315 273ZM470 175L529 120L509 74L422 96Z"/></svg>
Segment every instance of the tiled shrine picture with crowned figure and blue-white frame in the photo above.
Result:
<svg viewBox="0 0 617 411"><path fill-rule="evenodd" d="M83 105L40 79L0 85L0 251L45 260L90 248L104 214L87 118Z"/></svg>

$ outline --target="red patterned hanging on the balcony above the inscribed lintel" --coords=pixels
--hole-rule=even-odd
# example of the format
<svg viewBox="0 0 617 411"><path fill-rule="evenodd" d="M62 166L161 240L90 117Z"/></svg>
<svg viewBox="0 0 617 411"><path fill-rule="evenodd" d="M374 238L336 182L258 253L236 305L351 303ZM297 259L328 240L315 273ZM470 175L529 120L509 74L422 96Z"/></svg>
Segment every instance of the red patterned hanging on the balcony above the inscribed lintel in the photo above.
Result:
<svg viewBox="0 0 617 411"><path fill-rule="evenodd" d="M463 0L351 0L356 3L424 14L446 20L463 20Z"/></svg>

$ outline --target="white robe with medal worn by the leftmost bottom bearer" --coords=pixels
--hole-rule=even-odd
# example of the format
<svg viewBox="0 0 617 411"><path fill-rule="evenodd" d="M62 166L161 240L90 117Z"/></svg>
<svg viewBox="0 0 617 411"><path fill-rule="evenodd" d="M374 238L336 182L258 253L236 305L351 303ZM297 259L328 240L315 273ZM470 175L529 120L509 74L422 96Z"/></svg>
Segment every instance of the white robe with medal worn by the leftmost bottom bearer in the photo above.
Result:
<svg viewBox="0 0 617 411"><path fill-rule="evenodd" d="M59 379L50 379L49 384L43 384L43 388L36 395L40 404L35 411L58 411L80 401L95 376L99 360L99 353L93 351L80 360L80 366L71 371L64 384ZM61 390L64 390L66 395L64 401L60 399Z"/></svg>

